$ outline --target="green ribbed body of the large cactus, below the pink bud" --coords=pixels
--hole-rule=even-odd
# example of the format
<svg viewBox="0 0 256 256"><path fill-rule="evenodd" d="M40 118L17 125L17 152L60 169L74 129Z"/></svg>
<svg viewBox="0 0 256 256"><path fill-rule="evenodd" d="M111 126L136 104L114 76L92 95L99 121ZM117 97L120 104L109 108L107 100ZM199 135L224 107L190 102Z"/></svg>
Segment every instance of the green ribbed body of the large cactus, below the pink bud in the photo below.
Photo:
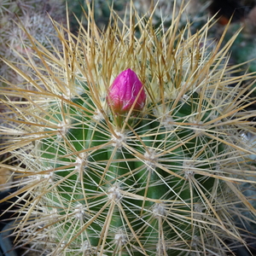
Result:
<svg viewBox="0 0 256 256"><path fill-rule="evenodd" d="M69 109L53 103L49 122L58 119L63 124L60 134L49 133L38 146L55 186L46 194L49 208L81 222L73 226L73 218L70 223L63 219L56 228L56 240L66 234L63 241L75 249L86 242L88 250L97 248L109 255L113 253L108 251L161 255L165 243L172 239L183 238L189 245L192 236L199 236L191 223L191 207L202 203L193 180L206 196L211 194L215 181L204 173L216 169L216 157L225 148L203 133L202 123L211 113L209 106L201 125L195 125L189 124L188 116L199 113L199 107L205 108L196 93L178 104L170 120L155 116L158 107L151 105L147 116L122 131L108 115L107 119L96 119L88 113L84 105L88 106L90 98L84 95L82 101L69 102ZM65 113L63 119L61 113ZM70 119L65 121L66 115ZM208 132L218 133L214 129ZM82 223L89 225L83 229ZM73 236L68 235L70 229L74 229Z"/></svg>

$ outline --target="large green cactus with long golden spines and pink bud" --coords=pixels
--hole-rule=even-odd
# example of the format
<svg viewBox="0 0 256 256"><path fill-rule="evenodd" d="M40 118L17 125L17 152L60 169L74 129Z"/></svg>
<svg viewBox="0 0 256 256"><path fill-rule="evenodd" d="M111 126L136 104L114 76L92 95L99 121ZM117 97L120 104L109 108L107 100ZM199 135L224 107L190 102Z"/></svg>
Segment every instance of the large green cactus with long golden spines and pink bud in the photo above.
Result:
<svg viewBox="0 0 256 256"><path fill-rule="evenodd" d="M241 183L255 185L254 76L228 65L237 33L220 48L224 36L207 40L211 20L178 31L182 8L168 29L154 29L154 14L139 17L132 3L129 26L112 12L100 32L88 9L78 36L55 24L61 52L28 34L41 63L25 60L33 79L5 60L33 88L2 90L16 123L1 128L2 153L16 159L1 162L18 189L2 200L20 206L16 246L122 256L247 247L256 211Z"/></svg>

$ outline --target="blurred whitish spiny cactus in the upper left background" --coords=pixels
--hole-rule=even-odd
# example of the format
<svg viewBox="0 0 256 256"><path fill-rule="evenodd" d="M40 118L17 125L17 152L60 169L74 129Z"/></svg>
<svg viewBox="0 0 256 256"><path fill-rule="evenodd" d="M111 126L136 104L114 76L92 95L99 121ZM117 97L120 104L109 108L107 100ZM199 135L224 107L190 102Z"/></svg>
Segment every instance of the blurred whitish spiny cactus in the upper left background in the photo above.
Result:
<svg viewBox="0 0 256 256"><path fill-rule="evenodd" d="M18 24L26 26L30 35L49 50L51 44L56 46L60 43L47 14L61 22L61 14L64 12L63 3L55 0L46 0L43 6L41 3L38 0L3 0L0 3L0 55L9 61L17 62L16 66L26 73L29 73L30 69L26 65L19 66L18 63L23 62L22 58L26 58L27 51L32 51L32 49L29 48L29 39L26 37L26 33ZM23 47L24 44L26 44L26 49ZM35 62L37 60L37 58L33 59ZM22 77L5 65L2 60L0 60L0 75L11 83L20 82L21 84L24 82Z"/></svg>

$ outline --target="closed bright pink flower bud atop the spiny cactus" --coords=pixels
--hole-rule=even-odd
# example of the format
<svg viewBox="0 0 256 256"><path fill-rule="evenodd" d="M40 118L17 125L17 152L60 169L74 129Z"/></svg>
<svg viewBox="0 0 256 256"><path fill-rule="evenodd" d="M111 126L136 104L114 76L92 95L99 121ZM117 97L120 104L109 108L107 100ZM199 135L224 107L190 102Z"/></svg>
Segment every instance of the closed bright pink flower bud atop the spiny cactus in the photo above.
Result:
<svg viewBox="0 0 256 256"><path fill-rule="evenodd" d="M135 101L133 110L142 110L146 102L146 93L137 74L130 68L119 73L109 88L107 101L114 113L129 112Z"/></svg>

